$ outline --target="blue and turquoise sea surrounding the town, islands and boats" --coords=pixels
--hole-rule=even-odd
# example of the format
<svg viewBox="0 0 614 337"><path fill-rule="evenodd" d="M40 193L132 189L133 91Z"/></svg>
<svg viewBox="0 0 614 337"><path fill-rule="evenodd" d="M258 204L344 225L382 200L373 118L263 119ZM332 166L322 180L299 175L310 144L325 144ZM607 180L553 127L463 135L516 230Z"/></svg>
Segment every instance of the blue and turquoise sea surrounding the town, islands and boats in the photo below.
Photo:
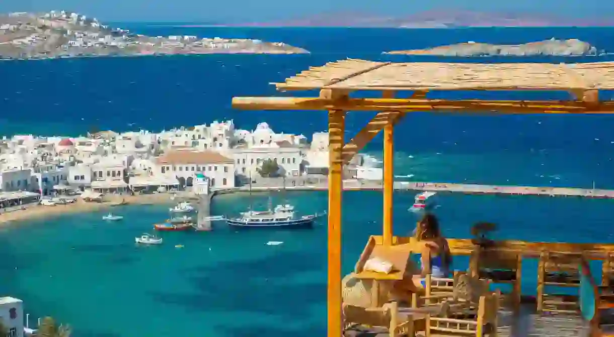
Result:
<svg viewBox="0 0 614 337"><path fill-rule="evenodd" d="M248 37L281 41L309 55L190 55L0 61L0 135L78 135L134 128L160 131L234 119L276 132L324 131L323 112L244 112L233 96L277 93L282 81L309 66L360 58L459 61L381 55L381 51L467 42L520 44L577 38L614 51L614 28L346 29L181 28L123 25L153 36ZM563 58L475 58L471 62L595 62L614 55ZM378 95L378 93L373 93ZM603 93L612 99L611 93ZM566 93L433 93L429 97L564 99ZM349 140L375 113L349 113ZM135 123L134 126L128 124ZM614 189L613 116L412 113L395 132L398 179ZM381 139L367 152L381 159ZM274 196L281 202L281 195ZM327 207L324 192L288 197L304 213ZM395 195L397 235L416 221L413 195ZM266 197L257 202L264 205ZM499 224L500 238L612 241L612 201L575 198L441 195L437 214L449 237L468 237L478 221ZM237 213L249 200L217 198L213 212ZM373 210L365 212L364 210ZM344 271L381 233L381 193L347 192L343 208ZM133 237L168 215L164 206L126 206L123 222L102 213L66 214L0 229L0 294L25 301L34 317L51 315L74 336L315 336L325 333L326 223L297 232L168 233L165 244L137 248ZM267 241L283 241L267 246ZM184 248L175 248L176 244ZM466 267L457 259L456 267ZM523 290L535 291L537 263L525 264Z"/></svg>

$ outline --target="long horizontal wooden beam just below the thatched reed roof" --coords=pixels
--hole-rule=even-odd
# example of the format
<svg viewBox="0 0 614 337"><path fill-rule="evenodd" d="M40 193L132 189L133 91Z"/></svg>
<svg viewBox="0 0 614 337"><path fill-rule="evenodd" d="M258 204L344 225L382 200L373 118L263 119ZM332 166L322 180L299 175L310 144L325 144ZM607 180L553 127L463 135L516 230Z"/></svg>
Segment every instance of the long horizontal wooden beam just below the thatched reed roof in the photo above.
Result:
<svg viewBox="0 0 614 337"><path fill-rule="evenodd" d="M588 98L588 97L587 97ZM344 110L395 112L614 113L614 102L582 100L445 100L351 98L330 100L303 97L234 97L243 110Z"/></svg>

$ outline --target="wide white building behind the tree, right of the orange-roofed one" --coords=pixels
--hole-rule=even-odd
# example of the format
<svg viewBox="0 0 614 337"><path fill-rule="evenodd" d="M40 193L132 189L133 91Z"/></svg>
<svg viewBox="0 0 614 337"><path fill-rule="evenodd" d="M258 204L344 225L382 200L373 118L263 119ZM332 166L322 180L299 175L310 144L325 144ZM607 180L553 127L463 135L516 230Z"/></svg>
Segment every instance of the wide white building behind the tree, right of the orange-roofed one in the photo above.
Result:
<svg viewBox="0 0 614 337"><path fill-rule="evenodd" d="M267 159L277 162L279 175L285 176L301 175L303 162L300 148L285 140L251 147L239 146L233 151L233 159L235 172L243 180L249 176L257 176L258 168L262 167L262 162Z"/></svg>

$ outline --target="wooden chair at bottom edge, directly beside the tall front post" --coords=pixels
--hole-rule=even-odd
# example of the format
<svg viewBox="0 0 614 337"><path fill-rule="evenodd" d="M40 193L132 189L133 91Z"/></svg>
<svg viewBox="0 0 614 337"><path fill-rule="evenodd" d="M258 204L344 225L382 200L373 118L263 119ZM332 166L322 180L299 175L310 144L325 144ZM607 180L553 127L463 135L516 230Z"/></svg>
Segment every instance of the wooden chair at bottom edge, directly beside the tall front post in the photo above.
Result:
<svg viewBox="0 0 614 337"><path fill-rule="evenodd" d="M413 317L399 314L396 302L386 303L379 308L343 305L344 331L361 325L370 328L384 328L390 337L413 337L415 334Z"/></svg>

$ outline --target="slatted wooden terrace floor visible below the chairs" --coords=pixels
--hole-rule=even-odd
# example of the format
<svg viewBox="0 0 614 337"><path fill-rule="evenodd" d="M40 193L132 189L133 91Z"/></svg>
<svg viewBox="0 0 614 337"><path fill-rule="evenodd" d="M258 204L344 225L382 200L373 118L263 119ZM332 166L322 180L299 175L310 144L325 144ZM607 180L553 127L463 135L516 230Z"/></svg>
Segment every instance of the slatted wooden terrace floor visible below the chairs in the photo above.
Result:
<svg viewBox="0 0 614 337"><path fill-rule="evenodd" d="M378 328L357 328L346 331L346 337L388 337ZM419 333L418 333L419 336ZM588 328L579 316L539 316L535 303L523 305L518 316L499 313L499 337L584 337Z"/></svg>

